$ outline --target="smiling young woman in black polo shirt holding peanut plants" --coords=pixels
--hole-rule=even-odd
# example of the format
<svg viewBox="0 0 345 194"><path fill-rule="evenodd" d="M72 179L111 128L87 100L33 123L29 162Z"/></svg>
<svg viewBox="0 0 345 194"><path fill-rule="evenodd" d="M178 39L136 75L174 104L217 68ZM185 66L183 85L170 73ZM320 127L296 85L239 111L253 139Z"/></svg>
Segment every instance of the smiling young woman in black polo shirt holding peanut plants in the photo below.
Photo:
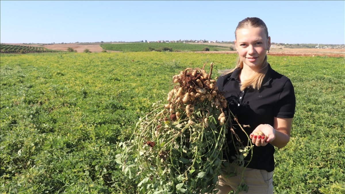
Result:
<svg viewBox="0 0 345 194"><path fill-rule="evenodd" d="M239 124L249 125L244 130L254 147L251 161L252 153L245 158L245 166L248 164L245 169L237 166L229 156L231 165L219 176L218 193L236 191L243 184L242 180L248 186L248 193L273 193L274 146L282 148L290 140L296 106L294 87L287 77L274 71L267 62L266 52L271 39L261 19L240 21L235 37L237 65L232 70L223 71L217 86L224 93ZM242 142L247 142L247 135L238 126L234 125L234 130ZM258 131L263 135L255 135ZM230 137L231 133L228 134L230 153L235 153L234 145L238 142Z"/></svg>

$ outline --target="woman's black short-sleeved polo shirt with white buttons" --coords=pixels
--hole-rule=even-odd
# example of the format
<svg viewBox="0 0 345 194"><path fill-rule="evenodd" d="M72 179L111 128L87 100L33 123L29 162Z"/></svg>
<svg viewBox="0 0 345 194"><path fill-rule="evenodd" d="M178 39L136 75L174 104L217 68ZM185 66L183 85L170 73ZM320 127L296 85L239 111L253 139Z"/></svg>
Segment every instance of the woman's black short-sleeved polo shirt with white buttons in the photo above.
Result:
<svg viewBox="0 0 345 194"><path fill-rule="evenodd" d="M240 69L238 68L231 74L220 76L217 80L217 87L219 91L223 92L228 101L228 106L238 118L239 124L250 126L244 128L248 136L260 124L273 126L274 117L294 117L296 99L294 87L289 78L274 71L268 65L267 73L259 90L249 87L241 91L239 73ZM244 145L247 145L248 138L246 134L236 125L235 121L233 124L236 134L244 142ZM231 132L229 131L227 140L230 153L228 154L232 156L236 152L230 135ZM259 147L254 145L253 158L248 167L272 172L274 170L274 151L272 144ZM245 161L250 159L250 155L249 153Z"/></svg>

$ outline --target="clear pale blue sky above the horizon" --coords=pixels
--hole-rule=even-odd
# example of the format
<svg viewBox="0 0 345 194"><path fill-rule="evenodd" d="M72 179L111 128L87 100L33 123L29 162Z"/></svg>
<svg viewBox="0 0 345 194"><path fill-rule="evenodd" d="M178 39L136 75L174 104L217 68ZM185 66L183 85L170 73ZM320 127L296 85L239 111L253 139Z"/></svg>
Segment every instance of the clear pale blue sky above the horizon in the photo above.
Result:
<svg viewBox="0 0 345 194"><path fill-rule="evenodd" d="M345 44L345 1L0 1L2 43L233 41L261 18L272 42Z"/></svg>

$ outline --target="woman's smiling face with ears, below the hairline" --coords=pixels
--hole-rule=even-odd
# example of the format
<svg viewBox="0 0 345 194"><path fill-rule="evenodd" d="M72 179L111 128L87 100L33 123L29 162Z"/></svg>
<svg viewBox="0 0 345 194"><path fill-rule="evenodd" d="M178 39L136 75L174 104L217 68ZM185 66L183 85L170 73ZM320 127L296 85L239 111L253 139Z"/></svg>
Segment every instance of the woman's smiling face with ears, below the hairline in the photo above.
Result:
<svg viewBox="0 0 345 194"><path fill-rule="evenodd" d="M236 31L235 46L243 65L255 69L263 63L271 38L261 28L242 28Z"/></svg>

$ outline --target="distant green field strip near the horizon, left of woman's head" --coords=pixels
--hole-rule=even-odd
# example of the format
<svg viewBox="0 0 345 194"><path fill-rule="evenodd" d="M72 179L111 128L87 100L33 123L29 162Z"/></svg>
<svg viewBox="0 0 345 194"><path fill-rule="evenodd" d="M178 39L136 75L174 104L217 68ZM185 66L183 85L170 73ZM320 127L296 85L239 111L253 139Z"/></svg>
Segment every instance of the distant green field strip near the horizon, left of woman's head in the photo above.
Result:
<svg viewBox="0 0 345 194"><path fill-rule="evenodd" d="M105 50L115 50L124 52L138 52L138 51L203 51L205 47L209 48L210 51L230 50L232 48L225 46L214 46L214 45L199 45L182 42L140 42L140 43L116 43L116 44L101 44Z"/></svg>

